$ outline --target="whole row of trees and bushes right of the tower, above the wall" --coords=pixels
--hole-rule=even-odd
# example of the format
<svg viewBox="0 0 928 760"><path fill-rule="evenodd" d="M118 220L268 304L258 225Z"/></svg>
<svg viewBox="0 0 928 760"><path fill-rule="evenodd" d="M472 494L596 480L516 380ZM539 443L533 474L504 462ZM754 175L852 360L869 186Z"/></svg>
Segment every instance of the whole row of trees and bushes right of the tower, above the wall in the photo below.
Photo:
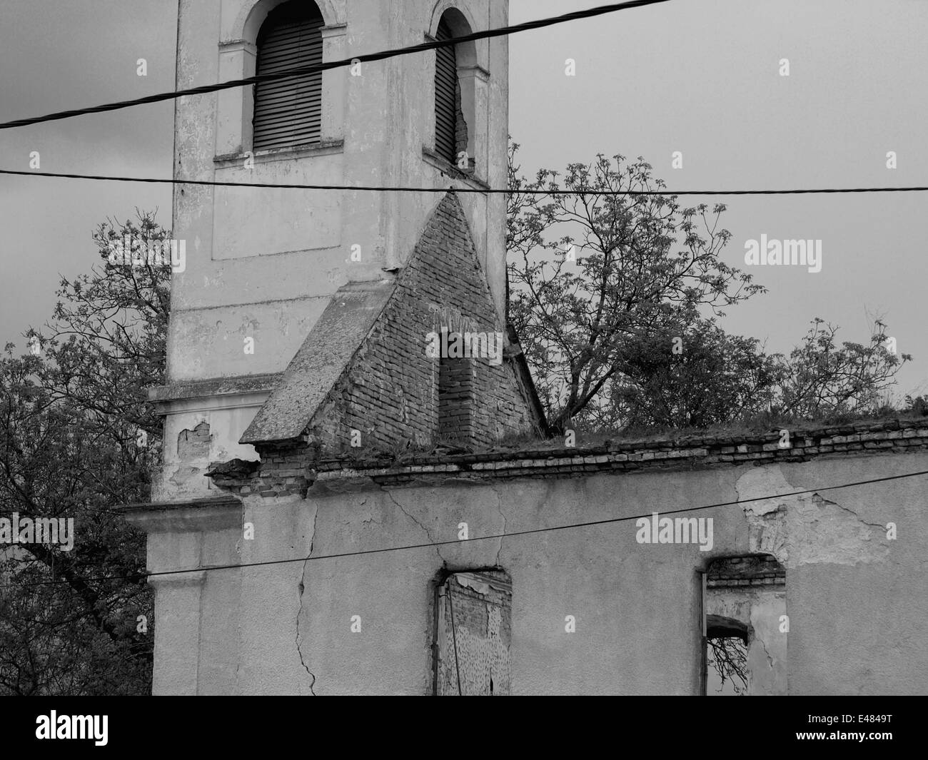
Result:
<svg viewBox="0 0 928 760"><path fill-rule="evenodd" d="M682 208L640 157L542 169L509 147L509 321L548 426L707 427L767 416L881 410L909 354L876 319L870 340L838 344L816 318L789 356L719 328L722 308L766 292L719 253L726 207Z"/></svg>

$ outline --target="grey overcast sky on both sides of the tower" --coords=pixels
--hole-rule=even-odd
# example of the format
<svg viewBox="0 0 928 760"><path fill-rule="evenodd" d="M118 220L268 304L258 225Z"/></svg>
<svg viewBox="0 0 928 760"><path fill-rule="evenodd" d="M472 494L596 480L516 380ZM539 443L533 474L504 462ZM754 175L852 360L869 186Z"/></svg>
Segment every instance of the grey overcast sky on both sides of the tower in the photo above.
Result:
<svg viewBox="0 0 928 760"><path fill-rule="evenodd" d="M603 2L512 0L511 19ZM176 8L2 0L0 121L173 89ZM677 190L924 186L926 40L928 0L673 0L523 32L510 43L510 132L526 174L601 152L643 156ZM171 103L6 130L0 168L27 169L38 150L44 171L166 177L172 130ZM898 350L915 354L898 394L928 392L928 193L687 202L701 200L728 203L729 264L743 267L745 241L761 235L822 240L817 274L751 268L769 293L730 309L728 330L788 352L814 316L866 341L867 310L883 314ZM0 176L0 341L25 351L21 333L50 315L58 273L96 261L92 228L136 206L170 225L168 186Z"/></svg>

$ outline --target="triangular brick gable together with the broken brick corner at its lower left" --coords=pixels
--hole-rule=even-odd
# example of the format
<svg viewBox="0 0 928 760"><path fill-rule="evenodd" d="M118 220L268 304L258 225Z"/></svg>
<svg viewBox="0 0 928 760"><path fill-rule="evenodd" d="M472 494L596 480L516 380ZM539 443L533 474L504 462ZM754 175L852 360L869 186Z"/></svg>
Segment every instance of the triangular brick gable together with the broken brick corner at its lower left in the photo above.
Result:
<svg viewBox="0 0 928 760"><path fill-rule="evenodd" d="M446 363L449 393L440 403L441 361L430 358L426 347L427 336L443 327L505 334L453 193L432 213L393 295L303 440L258 444L261 470L255 477L215 483L240 496L305 496L320 457L364 456L405 444L432 444L439 437L486 447L532 429L535 418L526 389L509 358L501 364L488 358ZM361 433L360 447L352 446L353 431Z"/></svg>

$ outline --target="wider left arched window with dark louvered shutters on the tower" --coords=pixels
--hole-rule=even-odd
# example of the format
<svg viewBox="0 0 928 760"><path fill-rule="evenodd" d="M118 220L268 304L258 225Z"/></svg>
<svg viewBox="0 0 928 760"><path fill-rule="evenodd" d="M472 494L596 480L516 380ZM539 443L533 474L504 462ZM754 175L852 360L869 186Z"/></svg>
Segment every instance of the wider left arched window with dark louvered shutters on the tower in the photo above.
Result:
<svg viewBox="0 0 928 760"><path fill-rule="evenodd" d="M258 33L257 74L322 63L324 21L315 3L277 6ZM322 72L254 85L254 150L318 143L322 127Z"/></svg>

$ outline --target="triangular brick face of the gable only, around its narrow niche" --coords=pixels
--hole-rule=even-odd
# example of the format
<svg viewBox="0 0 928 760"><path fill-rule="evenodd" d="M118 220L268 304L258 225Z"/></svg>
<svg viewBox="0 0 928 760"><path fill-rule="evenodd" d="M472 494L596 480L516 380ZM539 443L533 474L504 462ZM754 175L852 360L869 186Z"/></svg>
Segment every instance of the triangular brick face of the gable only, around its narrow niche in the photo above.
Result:
<svg viewBox="0 0 928 760"><path fill-rule="evenodd" d="M307 433L322 451L353 450L353 430L361 432L362 449L435 440L439 360L426 354L426 338L440 331L447 315L460 323L452 330L503 332L453 193L432 213L393 296L310 423ZM472 365L470 415L460 418L460 429L446 432L455 432L461 443L485 446L530 429L533 420L512 362L476 358Z"/></svg>

